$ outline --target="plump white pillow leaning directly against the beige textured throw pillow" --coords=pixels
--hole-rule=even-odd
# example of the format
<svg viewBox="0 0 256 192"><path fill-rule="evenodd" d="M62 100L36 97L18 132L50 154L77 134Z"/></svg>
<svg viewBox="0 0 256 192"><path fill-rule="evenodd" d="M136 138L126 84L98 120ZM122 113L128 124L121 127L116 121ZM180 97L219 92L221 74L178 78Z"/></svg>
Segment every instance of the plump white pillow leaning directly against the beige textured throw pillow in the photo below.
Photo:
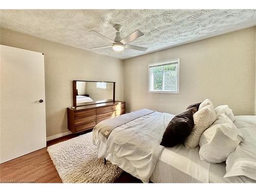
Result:
<svg viewBox="0 0 256 192"><path fill-rule="evenodd" d="M199 141L200 159L210 163L226 161L241 142L240 136L242 136L241 132L232 122L211 125L204 131Z"/></svg>

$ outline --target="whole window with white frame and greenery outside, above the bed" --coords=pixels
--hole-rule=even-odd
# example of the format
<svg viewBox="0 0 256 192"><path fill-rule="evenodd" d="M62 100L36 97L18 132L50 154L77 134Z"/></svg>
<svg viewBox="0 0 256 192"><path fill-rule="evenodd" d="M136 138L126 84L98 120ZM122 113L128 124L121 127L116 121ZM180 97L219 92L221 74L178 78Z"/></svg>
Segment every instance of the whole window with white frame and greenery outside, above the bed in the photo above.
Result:
<svg viewBox="0 0 256 192"><path fill-rule="evenodd" d="M148 64L148 92L180 93L180 59Z"/></svg>

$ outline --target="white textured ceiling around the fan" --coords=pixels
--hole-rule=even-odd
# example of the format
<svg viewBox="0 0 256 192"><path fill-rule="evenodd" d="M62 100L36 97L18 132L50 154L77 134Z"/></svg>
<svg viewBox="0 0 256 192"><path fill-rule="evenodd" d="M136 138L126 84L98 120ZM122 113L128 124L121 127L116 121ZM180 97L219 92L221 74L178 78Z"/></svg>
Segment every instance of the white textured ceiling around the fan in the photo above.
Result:
<svg viewBox="0 0 256 192"><path fill-rule="evenodd" d="M0 10L0 23L7 29L86 50L111 45L88 31L114 39L113 25L121 24L122 38L137 29L144 33L129 44L147 47L148 53L254 26L255 15L255 10ZM121 59L145 54L112 48L94 52Z"/></svg>

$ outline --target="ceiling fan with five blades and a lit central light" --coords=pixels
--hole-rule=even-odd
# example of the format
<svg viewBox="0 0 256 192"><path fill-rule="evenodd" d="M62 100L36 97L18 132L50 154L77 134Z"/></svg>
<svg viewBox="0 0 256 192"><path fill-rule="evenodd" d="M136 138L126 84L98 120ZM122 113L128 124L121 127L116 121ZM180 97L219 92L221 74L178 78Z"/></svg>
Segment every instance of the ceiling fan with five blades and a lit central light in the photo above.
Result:
<svg viewBox="0 0 256 192"><path fill-rule="evenodd" d="M113 50L115 51L122 51L123 49L134 49L138 51L146 51L147 48L145 47L139 47L139 46L132 46L132 45L127 45L127 42L130 42L132 40L137 39L138 37L144 35L140 30L136 30L130 35L128 35L125 38L121 38L120 31L122 29L122 26L119 24L114 25L114 28L117 30L116 32L116 37L114 40L111 40L110 38L96 32L96 31L89 31L90 33L93 33L94 35L97 35L98 37L101 37L105 40L108 40L112 43L112 45L109 46L101 46L101 47L94 47L90 48L91 50L98 50L98 49L104 49L104 48L109 48L112 47Z"/></svg>

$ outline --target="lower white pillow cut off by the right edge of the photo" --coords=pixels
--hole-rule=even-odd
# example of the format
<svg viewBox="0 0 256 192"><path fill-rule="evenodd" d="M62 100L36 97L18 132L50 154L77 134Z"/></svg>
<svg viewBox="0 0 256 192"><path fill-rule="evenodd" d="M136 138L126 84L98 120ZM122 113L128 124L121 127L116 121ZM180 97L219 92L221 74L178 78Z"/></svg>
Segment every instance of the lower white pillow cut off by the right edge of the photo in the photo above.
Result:
<svg viewBox="0 0 256 192"><path fill-rule="evenodd" d="M226 175L230 177L245 176L256 180L256 127L242 127L243 141L226 160Z"/></svg>

